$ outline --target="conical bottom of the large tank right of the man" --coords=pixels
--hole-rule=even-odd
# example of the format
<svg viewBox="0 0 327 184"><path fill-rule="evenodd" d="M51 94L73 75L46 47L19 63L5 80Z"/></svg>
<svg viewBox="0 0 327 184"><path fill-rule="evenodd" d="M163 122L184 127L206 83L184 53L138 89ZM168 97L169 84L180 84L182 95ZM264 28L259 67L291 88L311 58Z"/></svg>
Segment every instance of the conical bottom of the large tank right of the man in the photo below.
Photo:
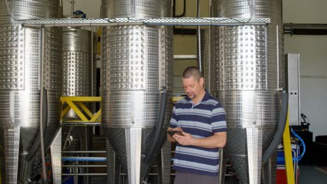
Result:
<svg viewBox="0 0 327 184"><path fill-rule="evenodd" d="M240 183L260 183L262 155L275 135L275 128L231 128L226 153ZM274 179L274 178L273 178Z"/></svg>

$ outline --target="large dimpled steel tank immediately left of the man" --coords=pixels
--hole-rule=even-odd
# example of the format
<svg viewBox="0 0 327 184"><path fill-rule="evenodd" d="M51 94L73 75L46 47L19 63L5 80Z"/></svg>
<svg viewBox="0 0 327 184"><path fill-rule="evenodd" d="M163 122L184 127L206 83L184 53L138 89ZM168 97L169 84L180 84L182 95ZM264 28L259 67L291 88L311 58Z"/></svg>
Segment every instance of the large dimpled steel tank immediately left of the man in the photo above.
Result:
<svg viewBox="0 0 327 184"><path fill-rule="evenodd" d="M102 13L102 17L170 17L170 1L102 1ZM114 158L127 171L130 184L143 181L143 174L147 172L143 159L156 137L154 128L163 87L168 93L163 130L168 127L173 86L172 34L172 29L165 26L126 25L102 29L102 123L110 141L108 153L111 146L115 151L115 155L108 154L109 182L115 179L110 172ZM166 150L162 169L168 173L163 177L164 183L170 183L169 146L163 146Z"/></svg>

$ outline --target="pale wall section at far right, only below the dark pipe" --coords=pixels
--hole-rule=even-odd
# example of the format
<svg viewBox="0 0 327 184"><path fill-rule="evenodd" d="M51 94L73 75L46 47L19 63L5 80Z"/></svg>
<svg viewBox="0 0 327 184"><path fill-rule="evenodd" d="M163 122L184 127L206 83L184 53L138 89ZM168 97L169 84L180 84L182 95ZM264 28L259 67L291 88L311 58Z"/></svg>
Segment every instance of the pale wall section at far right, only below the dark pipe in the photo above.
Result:
<svg viewBox="0 0 327 184"><path fill-rule="evenodd" d="M300 53L301 112L314 137L327 135L327 36L284 36L284 52Z"/></svg>

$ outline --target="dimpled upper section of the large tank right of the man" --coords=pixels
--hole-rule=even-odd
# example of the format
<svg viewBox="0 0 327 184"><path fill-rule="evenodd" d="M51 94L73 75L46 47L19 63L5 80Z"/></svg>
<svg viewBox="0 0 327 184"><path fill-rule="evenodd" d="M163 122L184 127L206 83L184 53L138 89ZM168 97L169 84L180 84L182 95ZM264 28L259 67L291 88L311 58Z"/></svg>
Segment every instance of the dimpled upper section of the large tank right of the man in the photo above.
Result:
<svg viewBox="0 0 327 184"><path fill-rule="evenodd" d="M242 70L235 70L231 73L231 76L224 76L224 79L238 78L233 75L239 72L244 72L243 75L247 76L247 79L251 75L252 67L254 64L259 64L256 69L261 68L262 71L255 72L254 74L261 74L266 72L266 77L263 77L266 82L266 87L263 89L276 89L277 88L277 31L276 26L279 26L279 84L282 85L282 73L283 67L283 52L282 52L282 17L280 1L212 1L212 15L213 17L269 17L270 24L265 31L266 26L227 26L227 27L215 27L215 61L220 61L222 65L224 63L231 62L233 65L247 66ZM252 6L254 10L252 11ZM264 37L267 37L266 40ZM220 48L219 48L220 47ZM267 53L265 53L267 52ZM220 59L218 59L220 56ZM223 62L224 61L224 62ZM240 63L243 61L242 63ZM266 61L265 66L260 66ZM248 63L246 63L248 62ZM235 68L236 69L236 68ZM226 71L227 72L227 71ZM246 75L246 72L248 75ZM221 72L219 72L219 75ZM240 75L240 73L238 73ZM256 75L252 76L255 77ZM221 77L219 77L221 79ZM259 82L259 81L256 81ZM249 86L251 87L251 86ZM221 88L217 87L217 88ZM224 86L226 88L226 86ZM233 88L235 89L235 87ZM253 87L252 87L253 89ZM258 88L256 88L258 89Z"/></svg>

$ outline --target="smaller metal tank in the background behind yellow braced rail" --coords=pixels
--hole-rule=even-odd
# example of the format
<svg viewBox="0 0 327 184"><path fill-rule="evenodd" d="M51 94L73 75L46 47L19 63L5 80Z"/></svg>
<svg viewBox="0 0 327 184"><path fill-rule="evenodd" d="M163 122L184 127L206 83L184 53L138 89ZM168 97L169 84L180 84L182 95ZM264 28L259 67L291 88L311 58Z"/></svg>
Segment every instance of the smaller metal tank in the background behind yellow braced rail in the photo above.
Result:
<svg viewBox="0 0 327 184"><path fill-rule="evenodd" d="M75 18L76 16L70 16ZM93 96L96 91L96 34L92 31L66 27L62 30L62 96ZM93 38L92 38L93 36ZM93 49L93 51L92 51ZM92 76L93 75L93 76ZM92 110L91 104L86 104ZM79 106L78 106L79 107ZM82 108L80 108L83 112ZM73 109L65 120L80 119ZM92 128L87 126L64 126L62 135L73 137L70 144L61 140L63 151L88 151L91 145ZM81 169L81 168L80 168ZM86 172L86 168L82 168ZM86 177L85 177L86 179ZM76 179L78 180L78 179Z"/></svg>

